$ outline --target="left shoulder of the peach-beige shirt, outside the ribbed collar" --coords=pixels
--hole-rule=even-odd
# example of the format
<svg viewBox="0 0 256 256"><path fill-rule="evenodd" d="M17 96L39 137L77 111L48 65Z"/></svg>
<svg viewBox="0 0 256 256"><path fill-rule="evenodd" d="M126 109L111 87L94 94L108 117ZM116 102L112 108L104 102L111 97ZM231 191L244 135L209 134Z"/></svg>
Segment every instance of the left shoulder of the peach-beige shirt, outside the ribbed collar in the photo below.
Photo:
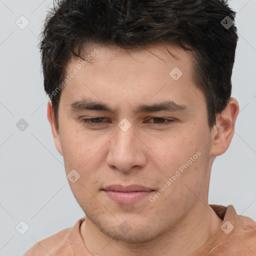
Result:
<svg viewBox="0 0 256 256"><path fill-rule="evenodd" d="M51 256L65 252L72 255L72 248L69 242L69 232L71 228L63 229L39 242L36 242L23 256ZM69 254L68 254L69 253Z"/></svg>

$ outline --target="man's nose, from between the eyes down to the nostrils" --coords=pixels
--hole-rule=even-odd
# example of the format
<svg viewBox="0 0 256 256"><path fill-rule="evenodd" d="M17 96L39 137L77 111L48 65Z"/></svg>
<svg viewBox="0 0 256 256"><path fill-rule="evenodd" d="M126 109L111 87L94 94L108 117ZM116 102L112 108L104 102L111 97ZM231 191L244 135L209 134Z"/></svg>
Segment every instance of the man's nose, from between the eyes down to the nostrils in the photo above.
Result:
<svg viewBox="0 0 256 256"><path fill-rule="evenodd" d="M107 165L115 170L130 171L140 169L146 164L147 147L131 125L126 131L118 125L115 135L109 141Z"/></svg>

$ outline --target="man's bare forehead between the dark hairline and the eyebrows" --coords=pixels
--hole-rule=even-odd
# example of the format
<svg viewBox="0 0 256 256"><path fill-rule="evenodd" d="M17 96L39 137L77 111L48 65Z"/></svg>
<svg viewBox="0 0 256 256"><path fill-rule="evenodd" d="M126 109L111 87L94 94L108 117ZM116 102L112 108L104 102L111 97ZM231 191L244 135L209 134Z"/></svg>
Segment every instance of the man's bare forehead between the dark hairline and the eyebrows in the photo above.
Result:
<svg viewBox="0 0 256 256"><path fill-rule="evenodd" d="M179 104L203 99L193 82L192 56L179 46L123 49L93 44L85 49L83 57L85 60L72 58L66 67L66 75L76 70L63 88L69 102L88 95L98 101L134 103L134 107L137 101L151 99Z"/></svg>

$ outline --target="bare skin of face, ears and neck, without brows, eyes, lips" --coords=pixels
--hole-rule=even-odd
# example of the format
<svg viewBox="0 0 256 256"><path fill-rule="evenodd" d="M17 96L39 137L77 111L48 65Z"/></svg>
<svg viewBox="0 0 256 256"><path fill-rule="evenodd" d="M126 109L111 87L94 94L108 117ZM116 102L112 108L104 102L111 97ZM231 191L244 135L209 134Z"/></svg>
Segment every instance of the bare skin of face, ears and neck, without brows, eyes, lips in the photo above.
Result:
<svg viewBox="0 0 256 256"><path fill-rule="evenodd" d="M93 60L61 91L59 130L50 101L47 109L66 174L75 169L80 175L68 182L86 214L80 227L83 242L92 255L191 255L222 222L208 205L209 176L213 156L225 152L233 136L237 100L230 99L210 131L204 96L192 80L192 61L185 51L167 44L152 46L153 54L94 44L87 53L94 48ZM80 61L70 60L66 73ZM178 80L169 75L174 67L183 73ZM71 104L83 98L105 103L116 113L73 111ZM140 104L165 100L187 110L133 113ZM93 117L104 118L91 120L97 126L82 122ZM152 117L174 121L160 126L166 120ZM123 118L131 125L126 131L118 126ZM190 157L189 167L166 188ZM102 190L111 184L139 184L154 191L135 203L117 203ZM149 195L164 184L165 191L150 201Z"/></svg>

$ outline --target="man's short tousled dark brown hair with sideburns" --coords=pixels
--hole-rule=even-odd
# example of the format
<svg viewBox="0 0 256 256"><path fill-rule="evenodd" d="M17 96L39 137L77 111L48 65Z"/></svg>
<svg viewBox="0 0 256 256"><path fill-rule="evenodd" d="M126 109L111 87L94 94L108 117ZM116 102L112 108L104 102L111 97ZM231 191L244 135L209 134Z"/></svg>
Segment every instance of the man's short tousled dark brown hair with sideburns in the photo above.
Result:
<svg viewBox="0 0 256 256"><path fill-rule="evenodd" d="M235 14L226 0L54 2L45 19L39 48L44 89L51 97L56 125L61 91L52 92L65 79L68 61L71 57L82 59L86 45L94 42L143 48L171 43L193 56L193 79L204 94L211 128L215 115L225 108L231 94L238 37L235 25L230 22Z"/></svg>

